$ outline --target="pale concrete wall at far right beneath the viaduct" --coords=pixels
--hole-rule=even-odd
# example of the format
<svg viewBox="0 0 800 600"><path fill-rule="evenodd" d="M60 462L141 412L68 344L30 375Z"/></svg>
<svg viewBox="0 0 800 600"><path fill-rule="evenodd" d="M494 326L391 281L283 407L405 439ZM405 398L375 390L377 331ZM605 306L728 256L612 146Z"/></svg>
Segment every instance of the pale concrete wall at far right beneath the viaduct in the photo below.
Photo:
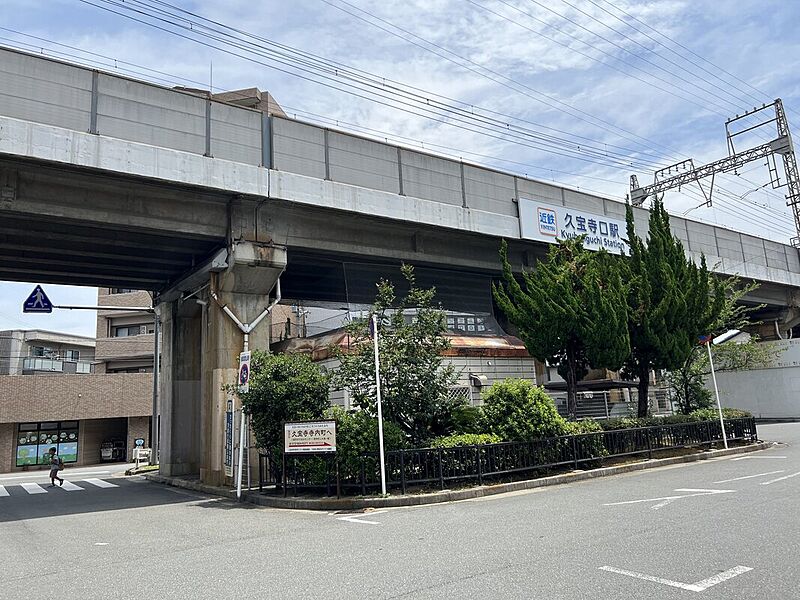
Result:
<svg viewBox="0 0 800 600"><path fill-rule="evenodd" d="M763 419L800 419L800 340L764 343L780 351L768 368L717 375L722 405Z"/></svg>

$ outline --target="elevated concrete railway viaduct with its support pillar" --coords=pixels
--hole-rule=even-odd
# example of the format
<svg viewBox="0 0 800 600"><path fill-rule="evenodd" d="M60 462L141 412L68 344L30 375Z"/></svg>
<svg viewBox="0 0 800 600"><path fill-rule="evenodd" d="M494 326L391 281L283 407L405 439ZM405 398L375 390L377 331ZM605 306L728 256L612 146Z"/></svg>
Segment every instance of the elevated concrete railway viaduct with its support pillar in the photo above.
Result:
<svg viewBox="0 0 800 600"><path fill-rule="evenodd" d="M224 480L223 386L245 339L225 309L252 323L279 278L284 299L369 302L406 261L446 307L491 311L500 239L519 265L547 250L522 238L520 198L624 218L618 201L0 49L0 279L154 293L167 474ZM796 249L672 226L690 256L759 281L749 300L778 331L797 323Z"/></svg>

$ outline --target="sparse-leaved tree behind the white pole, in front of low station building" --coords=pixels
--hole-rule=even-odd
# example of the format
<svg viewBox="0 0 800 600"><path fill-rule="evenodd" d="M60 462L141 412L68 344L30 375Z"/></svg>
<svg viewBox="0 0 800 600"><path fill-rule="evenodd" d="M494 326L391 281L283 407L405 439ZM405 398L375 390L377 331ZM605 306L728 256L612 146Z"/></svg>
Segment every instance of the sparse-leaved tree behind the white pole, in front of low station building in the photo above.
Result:
<svg viewBox="0 0 800 600"><path fill-rule="evenodd" d="M403 265L401 272L409 286L406 296L398 299L394 285L381 280L371 314L377 315L380 330L383 416L420 445L451 433L453 411L465 401L448 396L456 373L442 357L450 342L444 335L444 313L433 305L436 290L417 287L412 266ZM375 416L375 359L369 322L370 318L357 319L347 326L350 347L336 350L341 367L334 381L339 389L350 391L356 406Z"/></svg>

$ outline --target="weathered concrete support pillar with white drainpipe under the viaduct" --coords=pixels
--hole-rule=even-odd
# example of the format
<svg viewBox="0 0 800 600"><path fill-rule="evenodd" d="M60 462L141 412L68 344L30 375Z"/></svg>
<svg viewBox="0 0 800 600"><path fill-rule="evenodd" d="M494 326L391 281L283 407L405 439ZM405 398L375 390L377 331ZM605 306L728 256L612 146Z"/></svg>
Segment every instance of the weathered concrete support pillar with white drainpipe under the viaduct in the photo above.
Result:
<svg viewBox="0 0 800 600"><path fill-rule="evenodd" d="M236 383L244 330L250 350L269 349L270 319L255 328L250 324L270 306L270 291L285 267L285 249L237 241L227 268L208 273L207 287L199 286L201 291L186 300L162 303L160 464L165 475L198 474L206 483L231 483L223 460L225 409L231 396L239 405L225 387Z"/></svg>

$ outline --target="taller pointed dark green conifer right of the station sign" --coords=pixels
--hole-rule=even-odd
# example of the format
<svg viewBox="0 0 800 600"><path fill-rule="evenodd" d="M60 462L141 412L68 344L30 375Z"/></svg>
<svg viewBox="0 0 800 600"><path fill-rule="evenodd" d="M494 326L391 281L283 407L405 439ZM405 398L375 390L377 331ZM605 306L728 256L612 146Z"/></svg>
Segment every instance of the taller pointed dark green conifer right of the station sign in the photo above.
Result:
<svg viewBox="0 0 800 600"><path fill-rule="evenodd" d="M646 244L636 234L630 205L626 212L631 249L626 262L631 344L626 373L638 378L638 415L646 417L651 370L675 370L689 358L698 337L718 322L725 286L709 273L705 257L700 266L686 257L660 200L650 210Z"/></svg>

